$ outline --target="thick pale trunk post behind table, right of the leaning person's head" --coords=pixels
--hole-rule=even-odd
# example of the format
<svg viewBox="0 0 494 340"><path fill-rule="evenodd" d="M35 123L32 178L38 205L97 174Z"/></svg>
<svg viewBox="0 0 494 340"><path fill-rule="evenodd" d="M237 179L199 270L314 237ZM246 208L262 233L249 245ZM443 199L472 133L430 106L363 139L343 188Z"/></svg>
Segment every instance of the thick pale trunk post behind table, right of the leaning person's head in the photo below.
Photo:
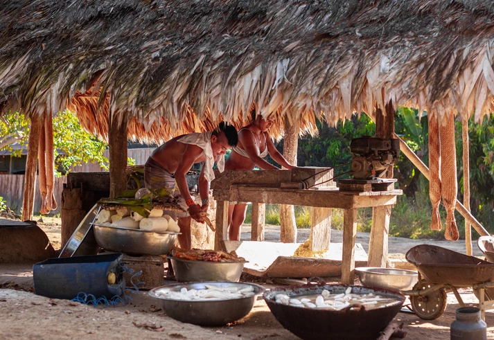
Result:
<svg viewBox="0 0 494 340"><path fill-rule="evenodd" d="M285 118L285 136L283 140L283 156L292 165L297 165L297 147L299 145L299 122ZM280 204L280 239L283 243L297 242L297 224L293 206Z"/></svg>

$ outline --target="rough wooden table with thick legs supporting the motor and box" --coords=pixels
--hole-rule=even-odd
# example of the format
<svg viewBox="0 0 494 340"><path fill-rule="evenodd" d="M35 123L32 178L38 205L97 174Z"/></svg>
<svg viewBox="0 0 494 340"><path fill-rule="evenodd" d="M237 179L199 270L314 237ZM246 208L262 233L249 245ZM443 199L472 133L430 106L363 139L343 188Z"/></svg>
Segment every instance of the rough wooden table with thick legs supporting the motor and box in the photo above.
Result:
<svg viewBox="0 0 494 340"><path fill-rule="evenodd" d="M252 202L252 204L292 204L321 208L344 209L342 283L353 284L355 271L355 238L357 235L358 208L373 207L371 240L369 244L369 267L386 267L387 238L391 206L402 190L380 192L340 192L337 188L294 189L231 185L228 188L212 186L217 202L215 249L221 249L221 241L227 240L229 202ZM254 210L254 209L253 209Z"/></svg>

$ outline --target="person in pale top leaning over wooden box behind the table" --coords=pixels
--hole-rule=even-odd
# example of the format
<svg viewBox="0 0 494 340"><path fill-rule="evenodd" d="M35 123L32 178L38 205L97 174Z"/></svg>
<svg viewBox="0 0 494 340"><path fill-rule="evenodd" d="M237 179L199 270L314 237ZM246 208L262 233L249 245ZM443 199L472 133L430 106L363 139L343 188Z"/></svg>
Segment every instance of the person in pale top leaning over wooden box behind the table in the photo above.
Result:
<svg viewBox="0 0 494 340"><path fill-rule="evenodd" d="M263 170L279 170L264 160L267 154L284 168L292 169L293 165L276 150L270 134L267 133L271 125L273 125L272 119L256 116L256 112L252 111L252 123L238 131L238 145L231 149L224 166L225 170L254 170L256 165ZM245 220L246 211L247 203L230 202L228 208L230 241L240 241L240 226Z"/></svg>

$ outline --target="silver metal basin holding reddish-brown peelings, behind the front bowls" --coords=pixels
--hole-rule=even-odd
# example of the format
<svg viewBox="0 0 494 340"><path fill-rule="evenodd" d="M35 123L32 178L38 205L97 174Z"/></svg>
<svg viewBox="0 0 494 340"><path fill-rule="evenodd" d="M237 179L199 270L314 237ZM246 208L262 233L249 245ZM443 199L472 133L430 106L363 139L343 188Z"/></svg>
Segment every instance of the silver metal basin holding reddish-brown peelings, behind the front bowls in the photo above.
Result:
<svg viewBox="0 0 494 340"><path fill-rule="evenodd" d="M238 282L247 262L209 262L184 260L167 256L179 282L230 281Z"/></svg>

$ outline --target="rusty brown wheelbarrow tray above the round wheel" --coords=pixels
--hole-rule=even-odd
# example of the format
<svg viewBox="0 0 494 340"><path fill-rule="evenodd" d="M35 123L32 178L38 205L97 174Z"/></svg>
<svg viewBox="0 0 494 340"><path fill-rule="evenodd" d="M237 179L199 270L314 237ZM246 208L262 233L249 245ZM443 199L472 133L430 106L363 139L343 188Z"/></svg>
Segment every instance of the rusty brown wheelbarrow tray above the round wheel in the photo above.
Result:
<svg viewBox="0 0 494 340"><path fill-rule="evenodd" d="M413 247L406 258L430 283L468 287L494 280L494 263L431 244Z"/></svg>

